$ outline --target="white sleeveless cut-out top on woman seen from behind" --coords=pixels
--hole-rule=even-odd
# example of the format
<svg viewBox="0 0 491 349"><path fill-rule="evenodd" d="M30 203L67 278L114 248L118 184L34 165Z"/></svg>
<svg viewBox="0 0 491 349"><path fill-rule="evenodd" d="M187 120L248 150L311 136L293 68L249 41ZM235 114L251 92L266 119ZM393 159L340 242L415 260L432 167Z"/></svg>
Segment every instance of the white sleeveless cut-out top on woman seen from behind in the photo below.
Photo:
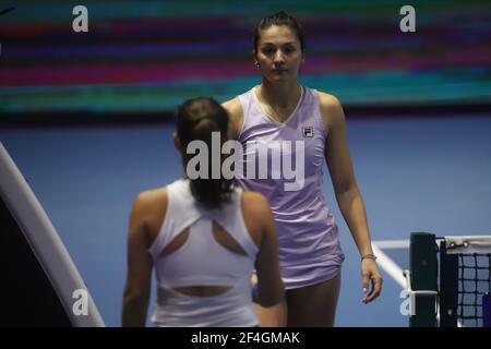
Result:
<svg viewBox="0 0 491 349"><path fill-rule="evenodd" d="M190 181L180 179L167 186L168 207L160 231L148 252L157 276L157 304L152 321L157 326L255 326L258 316L251 298L250 277L258 246L246 228L241 193L236 188L230 202L211 209L191 194ZM216 242L216 221L246 251L229 251ZM184 244L167 255L161 251L189 228ZM225 293L192 297L177 287L228 286Z"/></svg>

